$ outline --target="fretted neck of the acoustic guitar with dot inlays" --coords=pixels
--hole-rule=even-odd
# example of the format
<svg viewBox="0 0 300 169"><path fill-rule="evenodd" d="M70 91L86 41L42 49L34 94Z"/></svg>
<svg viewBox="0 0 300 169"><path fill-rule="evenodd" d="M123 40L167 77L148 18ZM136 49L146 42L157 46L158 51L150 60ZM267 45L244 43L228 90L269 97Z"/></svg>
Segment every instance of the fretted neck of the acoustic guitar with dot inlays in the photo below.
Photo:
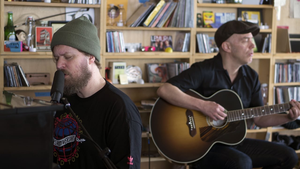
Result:
<svg viewBox="0 0 300 169"><path fill-rule="evenodd" d="M247 109L232 110L227 112L227 120L231 122L259 116L272 115L287 111L290 108L291 105L289 103L283 103L271 106L260 106Z"/></svg>

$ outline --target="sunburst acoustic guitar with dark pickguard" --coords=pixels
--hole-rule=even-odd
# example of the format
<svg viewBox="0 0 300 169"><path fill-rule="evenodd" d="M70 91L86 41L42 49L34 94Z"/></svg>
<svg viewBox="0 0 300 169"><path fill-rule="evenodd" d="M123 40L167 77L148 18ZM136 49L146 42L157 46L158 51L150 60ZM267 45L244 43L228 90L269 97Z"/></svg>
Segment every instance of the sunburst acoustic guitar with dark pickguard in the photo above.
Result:
<svg viewBox="0 0 300 169"><path fill-rule="evenodd" d="M199 111L174 106L158 98L150 114L150 132L160 154L172 163L188 165L201 159L215 143L235 145L246 136L246 120L289 110L289 103L243 109L234 91L220 90L203 97L188 90L190 96L214 101L225 108L224 120L212 120Z"/></svg>

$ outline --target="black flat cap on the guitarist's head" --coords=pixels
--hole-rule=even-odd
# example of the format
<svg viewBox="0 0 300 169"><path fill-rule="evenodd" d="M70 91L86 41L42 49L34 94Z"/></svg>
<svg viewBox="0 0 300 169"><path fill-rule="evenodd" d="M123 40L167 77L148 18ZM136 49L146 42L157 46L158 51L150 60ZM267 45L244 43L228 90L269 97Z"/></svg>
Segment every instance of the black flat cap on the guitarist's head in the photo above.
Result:
<svg viewBox="0 0 300 169"><path fill-rule="evenodd" d="M259 26L256 23L231 20L221 25L214 34L214 41L219 48L224 41L226 41L231 35L252 33L255 36L259 33Z"/></svg>

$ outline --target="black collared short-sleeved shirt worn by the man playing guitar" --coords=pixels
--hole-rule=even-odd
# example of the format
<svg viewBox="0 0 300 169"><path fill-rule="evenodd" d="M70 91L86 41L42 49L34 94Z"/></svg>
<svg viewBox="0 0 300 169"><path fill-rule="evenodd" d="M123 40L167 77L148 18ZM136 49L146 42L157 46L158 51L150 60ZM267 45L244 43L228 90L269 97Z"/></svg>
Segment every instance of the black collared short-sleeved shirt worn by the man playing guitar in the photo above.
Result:
<svg viewBox="0 0 300 169"><path fill-rule="evenodd" d="M167 82L182 91L193 89L204 97L210 97L222 89L229 89L239 95L243 108L263 106L257 72L250 66L243 65L231 83L227 70L223 69L220 53L211 59L194 63L189 69Z"/></svg>

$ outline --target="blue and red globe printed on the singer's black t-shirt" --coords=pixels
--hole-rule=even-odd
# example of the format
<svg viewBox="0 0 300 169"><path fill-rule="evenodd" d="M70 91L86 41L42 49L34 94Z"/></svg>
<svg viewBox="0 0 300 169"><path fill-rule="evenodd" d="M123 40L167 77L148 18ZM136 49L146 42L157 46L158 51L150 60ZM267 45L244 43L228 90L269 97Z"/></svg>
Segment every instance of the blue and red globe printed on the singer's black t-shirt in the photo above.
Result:
<svg viewBox="0 0 300 169"><path fill-rule="evenodd" d="M78 124L73 119L68 117L68 115L60 121L62 124L57 124L54 128L53 138L56 140L65 139L68 136L76 136L76 138L79 138L78 135ZM76 138L74 141L70 142L64 142L61 146L55 146L54 149L58 154L58 160L67 161L67 159L70 159L75 153L76 153L76 146L78 145L78 142L76 141Z"/></svg>

